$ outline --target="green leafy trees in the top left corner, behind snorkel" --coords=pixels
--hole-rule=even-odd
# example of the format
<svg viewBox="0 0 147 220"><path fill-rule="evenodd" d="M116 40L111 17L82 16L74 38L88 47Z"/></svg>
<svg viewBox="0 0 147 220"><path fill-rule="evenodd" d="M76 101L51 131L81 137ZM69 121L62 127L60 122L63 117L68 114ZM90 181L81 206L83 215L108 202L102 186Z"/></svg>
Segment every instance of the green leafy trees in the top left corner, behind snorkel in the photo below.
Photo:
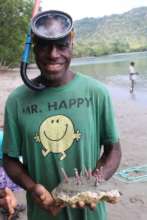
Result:
<svg viewBox="0 0 147 220"><path fill-rule="evenodd" d="M32 0L0 0L0 65L19 64L32 5Z"/></svg>

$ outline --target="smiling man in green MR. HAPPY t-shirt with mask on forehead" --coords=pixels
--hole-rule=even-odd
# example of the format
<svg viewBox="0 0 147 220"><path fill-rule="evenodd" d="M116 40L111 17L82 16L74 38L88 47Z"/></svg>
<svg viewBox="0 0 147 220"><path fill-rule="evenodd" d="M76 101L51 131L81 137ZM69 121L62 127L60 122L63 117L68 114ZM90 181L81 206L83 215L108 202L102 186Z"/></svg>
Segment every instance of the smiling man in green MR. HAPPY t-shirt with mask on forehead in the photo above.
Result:
<svg viewBox="0 0 147 220"><path fill-rule="evenodd" d="M36 92L23 85L9 96L5 109L4 167L27 191L29 220L105 220L103 202L89 208L79 203L72 209L56 206L51 195L62 180L61 168L73 176L74 168L80 172L86 167L94 174L103 167L104 179L108 180L121 158L108 91L102 83L70 70L73 28L68 29L67 14L58 13L54 16L55 11L48 11L33 20L35 60L45 89ZM53 20L58 25L50 27ZM44 29L46 23L48 30ZM23 164L18 160L20 155Z"/></svg>

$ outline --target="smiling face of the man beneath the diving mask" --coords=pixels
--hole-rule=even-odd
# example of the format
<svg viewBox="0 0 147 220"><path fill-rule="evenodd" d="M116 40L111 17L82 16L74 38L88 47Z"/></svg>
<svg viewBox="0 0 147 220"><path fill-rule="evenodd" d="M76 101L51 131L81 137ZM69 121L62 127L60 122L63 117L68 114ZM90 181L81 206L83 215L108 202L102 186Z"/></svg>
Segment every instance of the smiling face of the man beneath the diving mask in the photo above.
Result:
<svg viewBox="0 0 147 220"><path fill-rule="evenodd" d="M34 53L36 63L48 81L63 80L72 57L72 40L69 36L54 41L36 40Z"/></svg>

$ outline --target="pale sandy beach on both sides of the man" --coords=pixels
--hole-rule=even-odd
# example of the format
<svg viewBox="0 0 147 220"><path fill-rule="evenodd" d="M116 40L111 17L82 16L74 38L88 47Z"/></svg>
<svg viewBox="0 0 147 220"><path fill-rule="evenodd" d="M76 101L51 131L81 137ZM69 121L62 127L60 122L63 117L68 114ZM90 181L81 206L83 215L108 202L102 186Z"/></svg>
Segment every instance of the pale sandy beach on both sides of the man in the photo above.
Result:
<svg viewBox="0 0 147 220"><path fill-rule="evenodd" d="M22 84L19 71L0 71L0 125L4 120L4 105L10 92ZM122 161L119 170L147 164L147 102L145 94L136 90L131 95L126 88L108 84L117 124L120 131ZM146 220L147 182L123 183L114 180L114 186L121 193L120 201L108 204L108 220ZM113 186L112 186L113 187ZM16 193L20 203L25 203L25 192ZM0 220L2 220L0 216ZM19 219L26 220L26 212Z"/></svg>

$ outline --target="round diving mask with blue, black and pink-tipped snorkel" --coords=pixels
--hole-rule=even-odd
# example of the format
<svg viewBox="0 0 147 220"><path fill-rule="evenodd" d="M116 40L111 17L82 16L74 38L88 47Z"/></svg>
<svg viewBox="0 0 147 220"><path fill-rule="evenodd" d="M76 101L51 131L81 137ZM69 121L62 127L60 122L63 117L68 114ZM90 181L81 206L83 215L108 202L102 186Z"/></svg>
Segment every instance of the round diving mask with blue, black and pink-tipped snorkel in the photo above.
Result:
<svg viewBox="0 0 147 220"><path fill-rule="evenodd" d="M70 15L62 11L50 10L37 13L39 11L40 1L35 1L35 7L32 13L31 25L26 38L25 48L21 60L21 78L23 82L32 90L42 91L47 84L40 74L34 79L29 79L27 67L31 51L33 37L39 40L56 41L66 38L73 29L73 21Z"/></svg>

